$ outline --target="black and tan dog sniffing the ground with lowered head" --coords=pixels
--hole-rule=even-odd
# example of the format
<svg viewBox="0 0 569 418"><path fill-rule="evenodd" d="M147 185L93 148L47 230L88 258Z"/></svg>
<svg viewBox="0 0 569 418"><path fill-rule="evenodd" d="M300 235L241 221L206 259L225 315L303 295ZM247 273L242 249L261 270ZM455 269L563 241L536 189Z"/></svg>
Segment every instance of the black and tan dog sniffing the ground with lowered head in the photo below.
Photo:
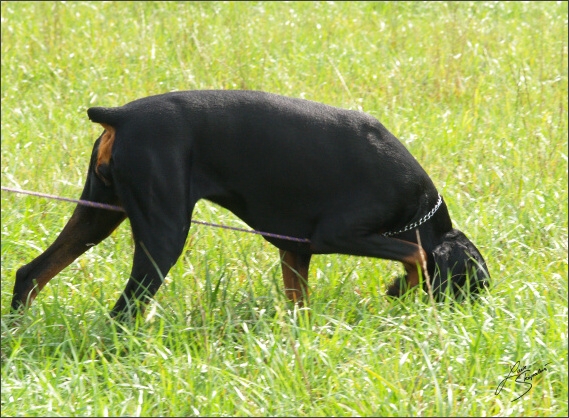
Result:
<svg viewBox="0 0 569 418"><path fill-rule="evenodd" d="M77 206L55 242L18 270L14 310L128 216L132 273L111 314L135 314L178 259L202 198L256 230L310 240L266 238L280 250L295 302L308 295L312 254L402 262L407 274L392 296L421 273L435 297L487 286L482 255L452 228L429 176L369 115L255 91L167 93L88 114L105 131L81 199L125 213Z"/></svg>

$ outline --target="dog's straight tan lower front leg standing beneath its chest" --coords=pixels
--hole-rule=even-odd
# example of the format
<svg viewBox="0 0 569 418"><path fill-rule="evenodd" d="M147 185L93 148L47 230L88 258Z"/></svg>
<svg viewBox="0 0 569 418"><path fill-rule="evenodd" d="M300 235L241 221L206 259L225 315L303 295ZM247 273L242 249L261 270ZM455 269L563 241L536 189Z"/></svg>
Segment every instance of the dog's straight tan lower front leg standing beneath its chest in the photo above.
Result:
<svg viewBox="0 0 569 418"><path fill-rule="evenodd" d="M308 267L311 254L279 250L286 296L298 306L308 303Z"/></svg>

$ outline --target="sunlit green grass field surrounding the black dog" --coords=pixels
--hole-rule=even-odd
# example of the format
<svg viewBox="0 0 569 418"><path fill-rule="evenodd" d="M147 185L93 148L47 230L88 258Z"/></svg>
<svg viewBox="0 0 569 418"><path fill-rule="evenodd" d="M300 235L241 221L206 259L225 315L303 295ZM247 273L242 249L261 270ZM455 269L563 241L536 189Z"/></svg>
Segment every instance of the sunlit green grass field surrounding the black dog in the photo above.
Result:
<svg viewBox="0 0 569 418"><path fill-rule="evenodd" d="M476 305L383 296L399 264L317 256L311 306L278 252L194 225L145 320L109 308L128 222L42 291L16 269L73 205L2 192L2 416L567 416L567 3L2 2L2 185L78 197L90 106L255 89L381 120L493 278ZM233 226L200 202L194 219ZM507 379L520 362L532 388ZM501 386L500 386L501 388ZM499 392L499 393L497 393Z"/></svg>

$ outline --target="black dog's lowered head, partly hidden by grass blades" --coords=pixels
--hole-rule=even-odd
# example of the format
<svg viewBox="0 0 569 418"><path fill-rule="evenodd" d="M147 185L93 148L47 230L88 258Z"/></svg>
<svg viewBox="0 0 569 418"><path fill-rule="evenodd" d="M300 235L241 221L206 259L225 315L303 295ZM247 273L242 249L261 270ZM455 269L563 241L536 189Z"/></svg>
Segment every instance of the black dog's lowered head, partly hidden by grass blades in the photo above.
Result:
<svg viewBox="0 0 569 418"><path fill-rule="evenodd" d="M446 294L453 299L464 299L489 285L490 274L484 258L458 229L444 234L429 258L432 291L438 300Z"/></svg>

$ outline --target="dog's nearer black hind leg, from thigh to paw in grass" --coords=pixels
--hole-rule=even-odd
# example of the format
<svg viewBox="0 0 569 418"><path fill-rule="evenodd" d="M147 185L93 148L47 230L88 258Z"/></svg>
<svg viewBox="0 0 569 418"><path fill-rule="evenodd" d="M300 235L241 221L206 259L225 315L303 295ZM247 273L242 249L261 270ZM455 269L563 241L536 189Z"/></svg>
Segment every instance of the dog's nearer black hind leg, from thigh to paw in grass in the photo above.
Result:
<svg viewBox="0 0 569 418"><path fill-rule="evenodd" d="M128 175L118 187L135 248L130 278L111 311L118 320L144 312L184 249L194 206L185 183L173 180L180 175L159 170Z"/></svg>

